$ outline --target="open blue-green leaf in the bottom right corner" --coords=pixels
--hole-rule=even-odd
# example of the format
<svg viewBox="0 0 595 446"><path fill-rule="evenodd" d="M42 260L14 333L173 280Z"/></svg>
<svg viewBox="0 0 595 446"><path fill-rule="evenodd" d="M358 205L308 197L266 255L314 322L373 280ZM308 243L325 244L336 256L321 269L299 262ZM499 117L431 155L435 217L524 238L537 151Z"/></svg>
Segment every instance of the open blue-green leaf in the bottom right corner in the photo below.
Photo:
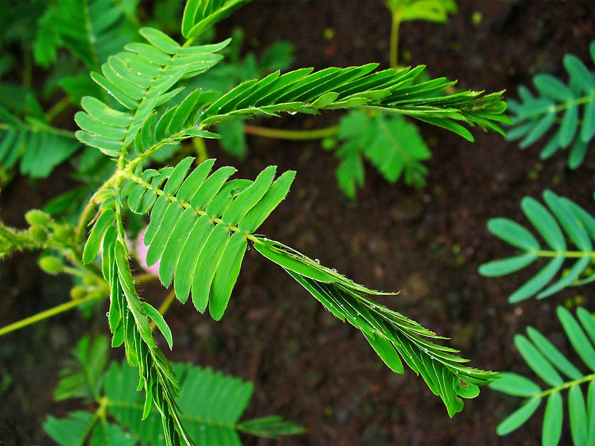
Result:
<svg viewBox="0 0 595 446"><path fill-rule="evenodd" d="M566 336L587 368L595 372L595 319L582 307L577 309L577 318L564 307L558 307L558 318ZM578 319L578 321L577 321ZM579 323L580 321L580 323ZM582 326L581 326L582 325ZM546 382L546 390L531 379L517 373L503 372L502 379L490 387L509 395L525 397L520 409L510 414L498 426L498 435L506 435L518 429L535 413L541 400L547 397L543 418L541 442L556 445L562 435L564 409L561 392L568 392L568 417L572 441L575 445L595 444L595 373L583 375L544 335L531 326L527 337L515 336L515 346L536 375ZM569 381L565 381L562 375ZM587 404L581 385L588 383Z"/></svg>

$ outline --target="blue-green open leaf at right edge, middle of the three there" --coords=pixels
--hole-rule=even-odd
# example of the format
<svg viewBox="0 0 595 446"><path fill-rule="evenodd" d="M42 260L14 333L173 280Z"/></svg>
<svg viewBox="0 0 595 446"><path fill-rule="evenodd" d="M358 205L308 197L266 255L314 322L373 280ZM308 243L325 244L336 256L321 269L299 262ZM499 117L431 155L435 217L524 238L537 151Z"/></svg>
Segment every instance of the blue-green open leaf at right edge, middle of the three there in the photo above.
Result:
<svg viewBox="0 0 595 446"><path fill-rule="evenodd" d="M492 234L517 247L521 253L481 265L481 275L497 277L511 274L540 257L551 259L537 275L511 294L508 298L510 302L518 302L535 294L537 299L543 299L562 288L595 281L592 271L595 262L595 219L576 203L559 197L550 190L544 191L543 199L551 213L531 197L522 200L521 208L550 250L542 250L530 231L508 218L493 218L488 221L488 230ZM568 241L578 248L577 251L568 249L562 228ZM562 268L565 259L577 260L555 283L543 289Z"/></svg>

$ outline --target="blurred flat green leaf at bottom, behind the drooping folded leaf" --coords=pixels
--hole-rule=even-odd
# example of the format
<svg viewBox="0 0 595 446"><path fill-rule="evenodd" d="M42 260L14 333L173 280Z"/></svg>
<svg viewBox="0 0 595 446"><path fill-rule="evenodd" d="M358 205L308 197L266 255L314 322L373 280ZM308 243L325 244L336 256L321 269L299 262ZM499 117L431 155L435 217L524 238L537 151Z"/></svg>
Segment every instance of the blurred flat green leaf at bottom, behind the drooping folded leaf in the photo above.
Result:
<svg viewBox="0 0 595 446"><path fill-rule="evenodd" d="M198 445L240 445L237 431L272 437L304 432L280 417L238 423L252 397L250 382L189 364L174 363L173 369L180 377L180 419ZM134 390L137 376L134 368L112 363L105 377L108 410L143 444L165 444L159 414L152 411L141 420L142 396Z"/></svg>

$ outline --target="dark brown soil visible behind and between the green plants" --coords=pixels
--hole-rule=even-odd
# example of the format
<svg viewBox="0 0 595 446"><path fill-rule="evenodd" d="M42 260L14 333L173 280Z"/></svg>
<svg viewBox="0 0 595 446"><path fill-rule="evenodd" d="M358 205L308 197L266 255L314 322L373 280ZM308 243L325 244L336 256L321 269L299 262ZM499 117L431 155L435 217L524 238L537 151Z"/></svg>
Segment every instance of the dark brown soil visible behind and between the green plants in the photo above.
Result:
<svg viewBox="0 0 595 446"><path fill-rule="evenodd" d="M538 72L566 80L562 56L577 55L593 69L588 44L595 35L593 2L466 1L447 24L404 23L400 63L427 64L434 76L459 80L463 89L493 92L529 84ZM483 16L475 25L475 11ZM218 27L227 37L234 26L246 33L256 52L278 39L296 45L294 67L389 65L390 14L380 1L256 1ZM334 38L324 39L325 29ZM247 45L248 46L248 45ZM403 59L404 52L411 55ZM337 116L283 117L262 125L316 128ZM594 288L584 286L544 301L507 303L507 297L536 268L500 279L477 273L481 263L512 255L491 236L486 222L506 216L527 224L519 203L541 199L552 189L593 211L593 148L577 171L565 168L566 153L541 164L536 144L521 152L501 136L475 130L475 143L430 125L418 124L433 156L428 185L416 191L386 183L373 169L356 203L337 189L332 153L318 142L285 142L249 137L244 162L209 146L217 165L231 164L240 177L254 178L267 165L296 169L289 197L261 232L355 281L383 290L401 290L381 303L452 337L471 366L530 371L512 343L514 334L533 325L574 358L555 308L583 296L593 310ZM17 177L2 194L2 219L24 227L23 213L71 187L67 167L49 180L29 183ZM1 325L68 299L70 283L48 277L35 253L2 263ZM142 293L158 304L167 295L159 285ZM105 308L104 308L105 307ZM107 303L98 310L105 313ZM279 441L245 436L246 444L540 444L543 404L534 419L500 438L497 424L519 398L483 388L449 419L439 397L411 370L395 375L381 363L356 329L335 319L281 268L253 250L244 260L230 307L221 322L175 303L167 314L174 335L171 360L213 366L250 379L255 385L245 418L281 414L308 433ZM108 333L104 318L85 321L76 310L2 338L2 375L12 384L2 394L0 442L50 444L41 428L48 413L64 416L76 401L55 403L52 391L61 363L80 336ZM121 357L121 349L112 352ZM569 444L567 420L561 444Z"/></svg>

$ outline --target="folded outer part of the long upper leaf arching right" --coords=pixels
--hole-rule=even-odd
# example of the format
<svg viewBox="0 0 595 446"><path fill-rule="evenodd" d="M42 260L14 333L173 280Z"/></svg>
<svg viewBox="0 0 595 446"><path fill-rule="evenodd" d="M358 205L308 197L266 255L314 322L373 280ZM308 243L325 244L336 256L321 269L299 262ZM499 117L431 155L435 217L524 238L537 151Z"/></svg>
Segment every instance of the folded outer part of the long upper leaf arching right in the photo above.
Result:
<svg viewBox="0 0 595 446"><path fill-rule="evenodd" d="M470 141L471 133L453 120L504 134L493 122L509 121L502 115L506 109L500 100L502 92L480 96L481 92L468 91L443 96L441 92L455 82L437 78L411 85L424 70L423 65L370 74L377 66L326 68L316 73L312 73L312 68L301 68L283 76L275 71L261 81L246 81L221 96L198 116L197 124L208 127L253 115L275 116L283 111L318 114L322 109L361 107L410 115Z"/></svg>

